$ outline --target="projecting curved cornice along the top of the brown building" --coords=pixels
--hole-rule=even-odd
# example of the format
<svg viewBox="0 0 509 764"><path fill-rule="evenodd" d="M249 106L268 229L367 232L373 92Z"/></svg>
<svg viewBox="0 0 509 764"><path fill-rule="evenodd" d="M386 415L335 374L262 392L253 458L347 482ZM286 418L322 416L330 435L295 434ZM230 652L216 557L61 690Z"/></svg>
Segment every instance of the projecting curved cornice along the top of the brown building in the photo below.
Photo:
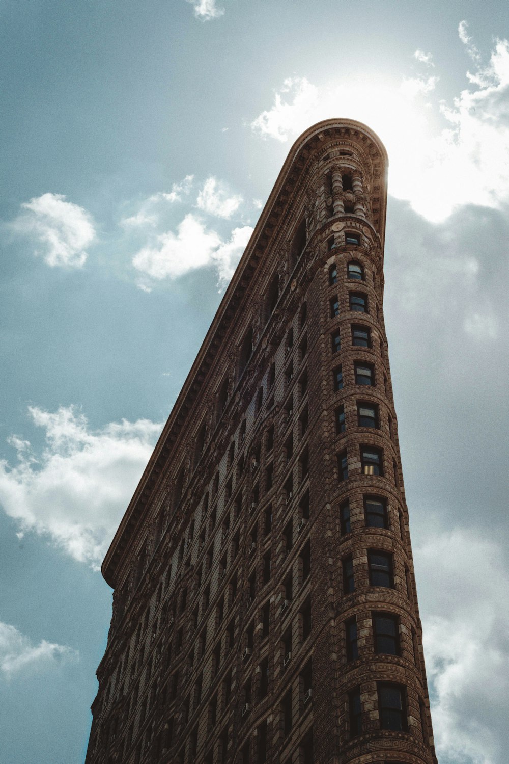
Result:
<svg viewBox="0 0 509 764"><path fill-rule="evenodd" d="M364 193L371 197L372 207L369 217L360 222L364 226L367 225L374 238L378 239L382 257L387 169L387 152L378 136L366 125L350 119L338 118L318 122L301 134L293 144L106 553L101 570L112 588L118 583L118 565L130 548L130 542L146 508L162 482L168 479L167 465L172 464L172 455L176 453L176 448L182 445L179 435L208 380L214 358L220 351L227 332L240 321L244 298L257 275L256 270L266 261L266 253L275 249L282 231L288 228L290 221L295 222L295 215L300 209L296 209L296 202L301 198L303 191L313 185L311 179L316 174L333 175L349 170L361 172ZM293 227L292 225L292 229ZM315 228L319 228L318 223L315 224ZM308 231L308 239L312 232ZM279 247L280 245L279 242Z"/></svg>

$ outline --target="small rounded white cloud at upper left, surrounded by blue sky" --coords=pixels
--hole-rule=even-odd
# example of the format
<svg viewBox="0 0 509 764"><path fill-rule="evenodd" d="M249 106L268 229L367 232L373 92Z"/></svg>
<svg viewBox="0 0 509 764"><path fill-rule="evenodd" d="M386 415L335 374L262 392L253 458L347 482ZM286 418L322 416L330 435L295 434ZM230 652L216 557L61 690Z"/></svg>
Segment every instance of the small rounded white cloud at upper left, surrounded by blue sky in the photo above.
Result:
<svg viewBox="0 0 509 764"><path fill-rule="evenodd" d="M57 193L44 193L21 207L24 212L11 228L34 240L34 254L42 254L51 267L81 268L85 264L85 248L95 239L94 225L85 209Z"/></svg>

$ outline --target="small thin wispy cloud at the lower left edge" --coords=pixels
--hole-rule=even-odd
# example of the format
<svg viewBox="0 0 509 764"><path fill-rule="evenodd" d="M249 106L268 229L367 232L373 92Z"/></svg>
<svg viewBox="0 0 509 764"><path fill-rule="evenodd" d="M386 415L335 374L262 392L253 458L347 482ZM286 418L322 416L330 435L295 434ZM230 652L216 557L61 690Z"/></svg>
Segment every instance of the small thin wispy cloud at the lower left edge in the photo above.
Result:
<svg viewBox="0 0 509 764"><path fill-rule="evenodd" d="M33 645L15 626L0 622L0 676L11 679L27 671L41 671L60 662L77 660L79 653L42 639Z"/></svg>

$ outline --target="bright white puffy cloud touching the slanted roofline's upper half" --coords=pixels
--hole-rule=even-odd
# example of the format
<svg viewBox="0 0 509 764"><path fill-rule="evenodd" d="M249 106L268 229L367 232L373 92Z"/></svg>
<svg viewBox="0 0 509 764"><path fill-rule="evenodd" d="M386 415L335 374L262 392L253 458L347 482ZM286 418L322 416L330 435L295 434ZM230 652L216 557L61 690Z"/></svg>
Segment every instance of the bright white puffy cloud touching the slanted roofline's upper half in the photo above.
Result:
<svg viewBox="0 0 509 764"><path fill-rule="evenodd" d="M141 249L133 259L134 267L150 279L176 279L191 270L215 265L220 282L233 273L233 264L242 254L253 228L244 226L232 231L230 241L223 241L216 231L209 231L189 213L179 223L177 233L166 231L152 245ZM147 288L144 281L140 284Z"/></svg>

